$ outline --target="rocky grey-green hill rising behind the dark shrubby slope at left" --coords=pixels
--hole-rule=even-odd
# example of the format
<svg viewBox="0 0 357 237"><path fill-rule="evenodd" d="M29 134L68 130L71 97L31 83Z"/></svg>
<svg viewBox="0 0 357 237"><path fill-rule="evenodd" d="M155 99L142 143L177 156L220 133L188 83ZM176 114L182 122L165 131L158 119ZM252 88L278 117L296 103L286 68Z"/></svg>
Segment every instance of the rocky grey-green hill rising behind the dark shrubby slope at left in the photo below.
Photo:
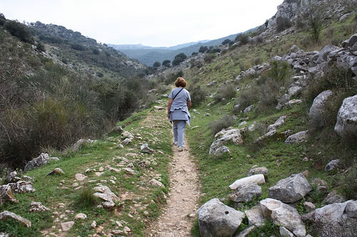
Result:
<svg viewBox="0 0 357 237"><path fill-rule="evenodd" d="M64 26L44 24L39 21L29 26L31 34L46 43L49 56L74 69L91 74L104 73L114 78L132 78L146 68L139 61L127 58L123 53L95 39L71 31Z"/></svg>

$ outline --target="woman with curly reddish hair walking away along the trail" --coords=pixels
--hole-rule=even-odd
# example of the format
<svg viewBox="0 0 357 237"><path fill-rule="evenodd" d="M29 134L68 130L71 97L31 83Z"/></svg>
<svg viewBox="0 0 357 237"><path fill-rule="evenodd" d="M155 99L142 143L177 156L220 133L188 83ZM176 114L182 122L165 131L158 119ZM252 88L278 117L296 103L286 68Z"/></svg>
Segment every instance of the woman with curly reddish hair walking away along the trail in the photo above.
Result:
<svg viewBox="0 0 357 237"><path fill-rule="evenodd" d="M176 88L171 90L169 95L169 105L167 107L167 117L173 123L174 144L178 146L178 152L183 151L183 134L186 123L188 126L191 122L191 97L186 88L186 80L177 78L175 81Z"/></svg>

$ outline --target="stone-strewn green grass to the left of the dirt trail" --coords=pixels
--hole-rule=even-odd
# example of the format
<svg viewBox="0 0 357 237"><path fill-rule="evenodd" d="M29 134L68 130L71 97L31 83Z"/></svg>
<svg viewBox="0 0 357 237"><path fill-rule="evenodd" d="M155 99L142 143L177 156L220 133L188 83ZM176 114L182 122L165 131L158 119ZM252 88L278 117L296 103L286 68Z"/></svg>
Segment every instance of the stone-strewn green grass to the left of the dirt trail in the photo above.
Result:
<svg viewBox="0 0 357 237"><path fill-rule="evenodd" d="M161 100L156 105L162 106L164 104L166 104L166 100ZM92 221L96 221L98 226L104 227L105 233L109 233L118 228L111 221L113 219L121 221L123 226L131 228L131 235L144 236L147 224L159 216L161 207L166 203L164 194L169 191L168 164L172 156L171 139L168 139L168 137L171 137L170 125L166 120L164 111L152 109L138 112L127 120L119 122L119 125L125 126L124 130L131 132L136 137L141 137L141 140L134 139L131 144L120 149L118 147L120 135L111 135L111 137L104 137L96 143L86 144L79 152L54 152L60 158L59 162L50 162L44 167L26 172L26 175L34 177L33 184L36 192L15 194L19 204L6 203L0 207L0 211L12 211L28 218L32 222L32 227L24 228L16 221L11 220L1 221L0 232L10 233L14 236L41 236L40 231L56 226L50 231L59 233L59 223L65 220L61 219L59 222L54 222L56 216L52 212L58 211L60 214L64 214L65 210L69 210L73 212L66 214L68 218L66 221L72 221L78 213L87 215L85 220L76 221L74 227L68 233L69 236L88 236L95 233L96 229L91 228ZM149 147L156 151L161 150L164 154L158 152L154 155L141 154L140 145L142 143L148 143ZM128 153L136 153L136 156L126 156ZM116 167L119 164L118 160L113 161L115 157L129 159L129 163L134 164L136 174L126 174L124 170L119 173L109 172L106 169L107 165ZM136 162L141 159L150 160L150 167L147 169L139 167ZM65 174L46 176L56 167L60 167ZM104 173L100 177L97 177L95 172L85 174L86 169L96 169L96 172L99 172L100 167L104 168ZM87 176L83 183L74 179L76 173ZM166 188L147 186L147 181L153 177L159 179ZM115 184L111 183L110 179L116 179ZM114 194L122 197L121 201L116 202L115 208L111 211L96 208L98 199L93 196L91 188L101 181L106 181L103 184L109 186ZM75 182L82 187L75 189L72 186ZM41 201L51 211L29 213L31 201ZM59 208L59 203L66 204L64 209ZM134 208L135 205L141 206L141 209ZM148 211L149 215L145 215L144 211ZM129 214L133 217L130 217Z"/></svg>

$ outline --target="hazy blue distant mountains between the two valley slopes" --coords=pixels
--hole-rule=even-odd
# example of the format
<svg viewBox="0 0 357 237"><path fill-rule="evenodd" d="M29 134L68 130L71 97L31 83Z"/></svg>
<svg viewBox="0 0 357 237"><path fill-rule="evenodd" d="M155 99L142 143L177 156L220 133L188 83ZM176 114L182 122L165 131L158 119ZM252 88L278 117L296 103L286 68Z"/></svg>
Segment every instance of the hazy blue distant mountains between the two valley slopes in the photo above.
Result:
<svg viewBox="0 0 357 237"><path fill-rule="evenodd" d="M249 29L243 33L248 33L256 28ZM139 60L141 63L152 66L156 61L162 63L164 60L174 60L178 53L185 53L186 56L191 56L191 53L198 52L201 46L218 46L226 39L233 41L239 33L235 33L230 36L218 38L212 41L197 41L191 43L183 43L178 46L171 47L150 47L137 45L115 45L108 44L108 46L115 48L116 50L124 53L129 58Z"/></svg>

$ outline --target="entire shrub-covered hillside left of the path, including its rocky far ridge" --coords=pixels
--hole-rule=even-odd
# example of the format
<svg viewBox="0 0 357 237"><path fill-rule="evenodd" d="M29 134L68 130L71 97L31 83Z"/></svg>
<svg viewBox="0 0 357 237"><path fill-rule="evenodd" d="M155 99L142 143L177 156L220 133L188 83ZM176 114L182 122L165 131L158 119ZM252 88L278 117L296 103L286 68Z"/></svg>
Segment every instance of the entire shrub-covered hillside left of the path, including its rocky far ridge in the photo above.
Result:
<svg viewBox="0 0 357 237"><path fill-rule="evenodd" d="M63 26L0 20L1 174L146 106L141 63Z"/></svg>

